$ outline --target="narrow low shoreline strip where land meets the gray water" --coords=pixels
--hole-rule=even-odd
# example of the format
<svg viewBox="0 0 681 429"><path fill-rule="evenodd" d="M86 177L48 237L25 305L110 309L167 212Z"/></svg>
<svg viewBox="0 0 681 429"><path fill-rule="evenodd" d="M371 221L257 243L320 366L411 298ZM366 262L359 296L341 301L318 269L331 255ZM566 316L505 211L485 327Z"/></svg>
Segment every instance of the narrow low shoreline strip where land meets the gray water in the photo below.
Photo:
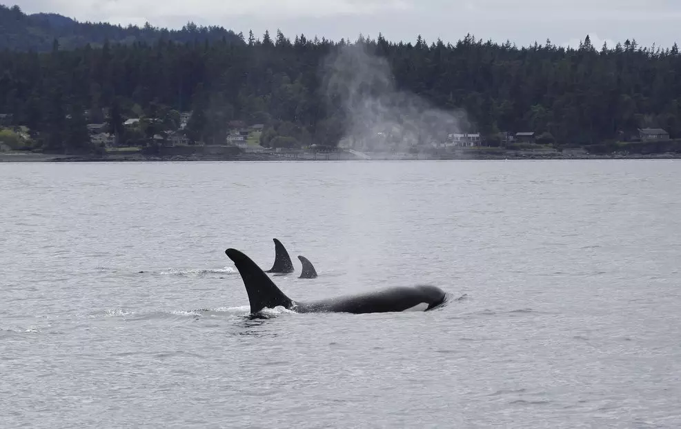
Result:
<svg viewBox="0 0 681 429"><path fill-rule="evenodd" d="M312 154L308 154L312 155ZM589 159L681 159L681 153L660 154L461 154L461 155L408 155L370 154L371 159L359 157L342 157L336 154L321 154L313 157L286 157L282 154L242 153L242 154L188 154L188 155L143 155L143 154L107 154L95 155L60 155L32 152L0 152L0 163L19 162L200 162L200 161L519 161L519 160L589 160Z"/></svg>

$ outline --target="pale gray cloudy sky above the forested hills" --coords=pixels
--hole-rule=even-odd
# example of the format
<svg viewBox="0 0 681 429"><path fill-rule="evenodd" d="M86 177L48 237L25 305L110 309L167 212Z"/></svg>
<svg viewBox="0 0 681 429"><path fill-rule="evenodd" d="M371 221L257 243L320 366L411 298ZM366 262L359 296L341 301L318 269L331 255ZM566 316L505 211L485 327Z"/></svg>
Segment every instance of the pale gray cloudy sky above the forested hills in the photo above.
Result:
<svg viewBox="0 0 681 429"><path fill-rule="evenodd" d="M414 41L440 37L455 43L470 32L477 39L527 46L546 38L578 45L636 39L639 45L671 47L681 39L680 0L14 0L24 12L57 12L79 21L181 28L187 21L261 37L266 29L295 34ZM11 1L7 3L12 4Z"/></svg>

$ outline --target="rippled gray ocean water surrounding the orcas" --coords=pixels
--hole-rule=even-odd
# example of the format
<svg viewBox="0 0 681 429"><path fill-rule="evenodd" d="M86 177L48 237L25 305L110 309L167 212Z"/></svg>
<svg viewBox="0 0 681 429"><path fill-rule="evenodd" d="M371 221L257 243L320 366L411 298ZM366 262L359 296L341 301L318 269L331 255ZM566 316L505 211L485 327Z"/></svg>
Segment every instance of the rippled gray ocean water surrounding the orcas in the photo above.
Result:
<svg viewBox="0 0 681 429"><path fill-rule="evenodd" d="M2 164L0 426L678 428L680 166ZM249 319L273 237L294 299L451 301Z"/></svg>

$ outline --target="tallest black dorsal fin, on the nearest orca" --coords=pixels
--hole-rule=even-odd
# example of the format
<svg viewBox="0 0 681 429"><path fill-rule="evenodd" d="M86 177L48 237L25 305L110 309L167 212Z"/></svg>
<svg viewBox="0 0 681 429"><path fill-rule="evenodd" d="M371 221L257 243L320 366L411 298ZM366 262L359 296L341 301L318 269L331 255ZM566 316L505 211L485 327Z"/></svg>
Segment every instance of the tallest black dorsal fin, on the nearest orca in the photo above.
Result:
<svg viewBox="0 0 681 429"><path fill-rule="evenodd" d="M277 288L272 279L252 259L236 249L227 249L225 254L234 262L241 280L244 281L251 314L263 308L293 307L293 301Z"/></svg>

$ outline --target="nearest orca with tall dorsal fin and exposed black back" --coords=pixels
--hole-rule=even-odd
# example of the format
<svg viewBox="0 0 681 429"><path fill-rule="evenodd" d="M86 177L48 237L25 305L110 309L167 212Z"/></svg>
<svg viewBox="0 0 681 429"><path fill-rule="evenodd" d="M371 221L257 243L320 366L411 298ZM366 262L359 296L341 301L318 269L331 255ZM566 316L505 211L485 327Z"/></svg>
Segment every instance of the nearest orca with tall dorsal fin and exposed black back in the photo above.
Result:
<svg viewBox="0 0 681 429"><path fill-rule="evenodd" d="M406 310L427 311L442 306L446 301L446 294L442 289L429 285L388 288L312 302L293 301L244 253L229 248L225 250L225 254L234 262L241 280L244 281L252 315L263 308L278 306L300 313L348 312L356 315Z"/></svg>

